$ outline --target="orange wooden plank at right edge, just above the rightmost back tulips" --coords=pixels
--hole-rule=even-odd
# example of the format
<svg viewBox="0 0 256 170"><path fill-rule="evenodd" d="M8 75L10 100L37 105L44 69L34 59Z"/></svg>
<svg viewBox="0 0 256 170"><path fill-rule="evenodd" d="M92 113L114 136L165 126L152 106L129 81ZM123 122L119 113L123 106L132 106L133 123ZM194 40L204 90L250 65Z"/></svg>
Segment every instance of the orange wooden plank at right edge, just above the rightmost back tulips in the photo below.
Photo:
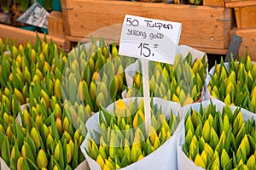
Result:
<svg viewBox="0 0 256 170"><path fill-rule="evenodd" d="M241 36L239 54L243 57L246 50L253 61L256 61L256 28L237 29L236 35Z"/></svg>

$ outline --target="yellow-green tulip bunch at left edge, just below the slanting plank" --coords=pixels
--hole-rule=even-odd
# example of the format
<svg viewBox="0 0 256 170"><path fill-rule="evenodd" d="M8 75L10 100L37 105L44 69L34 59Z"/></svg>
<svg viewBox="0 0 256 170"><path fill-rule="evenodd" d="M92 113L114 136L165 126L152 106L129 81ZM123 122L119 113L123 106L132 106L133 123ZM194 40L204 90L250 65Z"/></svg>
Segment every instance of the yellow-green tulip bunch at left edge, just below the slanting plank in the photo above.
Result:
<svg viewBox="0 0 256 170"><path fill-rule="evenodd" d="M28 103L29 88L36 82L53 95L53 77L59 77L66 60L53 42L41 42L39 37L34 46L27 42L19 47L0 38L0 101L15 94L20 105Z"/></svg>

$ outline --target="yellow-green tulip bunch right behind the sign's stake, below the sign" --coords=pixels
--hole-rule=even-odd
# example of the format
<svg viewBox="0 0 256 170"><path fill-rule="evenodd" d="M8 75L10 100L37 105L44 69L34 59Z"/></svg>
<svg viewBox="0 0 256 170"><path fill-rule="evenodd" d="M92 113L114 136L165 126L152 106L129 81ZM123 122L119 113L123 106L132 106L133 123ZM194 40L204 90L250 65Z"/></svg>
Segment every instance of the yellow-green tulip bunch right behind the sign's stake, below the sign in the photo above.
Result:
<svg viewBox="0 0 256 170"><path fill-rule="evenodd" d="M192 54L185 59L179 54L174 65L150 62L149 88L152 96L187 105L201 99L207 71L207 58L193 60ZM142 96L143 75L136 72L127 97ZM138 94L139 93L139 94Z"/></svg>

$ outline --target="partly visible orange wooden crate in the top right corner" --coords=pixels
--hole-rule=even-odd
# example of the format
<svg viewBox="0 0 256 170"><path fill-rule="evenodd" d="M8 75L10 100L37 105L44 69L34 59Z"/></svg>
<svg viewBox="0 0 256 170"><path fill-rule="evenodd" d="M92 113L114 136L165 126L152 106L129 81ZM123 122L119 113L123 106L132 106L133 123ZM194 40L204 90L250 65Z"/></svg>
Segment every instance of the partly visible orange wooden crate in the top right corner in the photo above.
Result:
<svg viewBox="0 0 256 170"><path fill-rule="evenodd" d="M241 28L256 28L256 1L255 0L226 0L226 8L234 8L236 26Z"/></svg>

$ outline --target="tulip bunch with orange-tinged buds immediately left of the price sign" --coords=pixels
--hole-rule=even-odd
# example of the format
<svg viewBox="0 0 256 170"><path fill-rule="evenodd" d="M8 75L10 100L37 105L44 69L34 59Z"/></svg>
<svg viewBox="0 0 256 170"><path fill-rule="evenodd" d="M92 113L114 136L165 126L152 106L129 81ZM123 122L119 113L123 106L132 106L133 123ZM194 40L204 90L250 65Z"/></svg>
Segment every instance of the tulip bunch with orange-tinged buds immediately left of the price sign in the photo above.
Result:
<svg viewBox="0 0 256 170"><path fill-rule="evenodd" d="M90 105L91 111L99 111L121 97L125 89L124 69L133 59L118 55L115 43L106 46L92 39L90 47L85 45L73 49L63 71L62 94L72 104Z"/></svg>

